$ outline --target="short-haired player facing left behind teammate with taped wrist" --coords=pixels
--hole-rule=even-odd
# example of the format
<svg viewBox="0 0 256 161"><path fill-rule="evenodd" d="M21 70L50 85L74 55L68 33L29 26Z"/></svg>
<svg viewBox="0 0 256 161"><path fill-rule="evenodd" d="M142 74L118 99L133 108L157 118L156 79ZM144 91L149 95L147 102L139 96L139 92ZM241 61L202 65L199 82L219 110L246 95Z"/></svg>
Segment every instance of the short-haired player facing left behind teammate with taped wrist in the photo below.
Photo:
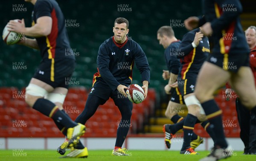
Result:
<svg viewBox="0 0 256 161"><path fill-rule="evenodd" d="M169 79L169 83L165 86L165 91L167 94L171 94L171 99L168 103L166 108L165 115L167 118L171 119L172 122L175 123L173 127L177 130L183 128L184 118L177 114L177 109L184 109L186 105L184 104L183 96L181 95L178 87L171 88L171 84L174 84L177 81L177 76L179 72L179 68L181 66L180 59L176 56L180 54L179 46L181 41L177 40L175 37L174 31L171 26L162 26L157 31L157 40L159 41L160 45L163 45L165 48L164 56L166 60L166 65L169 71L163 71L163 79ZM177 123L177 124L176 124ZM164 133L166 147L171 147L171 139L174 133L169 133L169 130L165 130L164 125ZM192 149L195 149L200 144L203 143L203 138L197 136L194 132L192 132L191 143L190 146Z"/></svg>

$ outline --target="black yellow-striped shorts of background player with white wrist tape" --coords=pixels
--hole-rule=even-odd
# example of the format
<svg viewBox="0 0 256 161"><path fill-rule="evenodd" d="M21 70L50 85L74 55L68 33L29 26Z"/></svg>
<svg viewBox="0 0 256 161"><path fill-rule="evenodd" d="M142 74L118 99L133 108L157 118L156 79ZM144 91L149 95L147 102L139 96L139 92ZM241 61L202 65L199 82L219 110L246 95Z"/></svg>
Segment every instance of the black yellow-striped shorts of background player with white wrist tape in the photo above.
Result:
<svg viewBox="0 0 256 161"><path fill-rule="evenodd" d="M194 93L197 76L197 73L186 73L186 78L181 79L181 75L179 74L178 79L180 81L178 81L178 88L182 96Z"/></svg>

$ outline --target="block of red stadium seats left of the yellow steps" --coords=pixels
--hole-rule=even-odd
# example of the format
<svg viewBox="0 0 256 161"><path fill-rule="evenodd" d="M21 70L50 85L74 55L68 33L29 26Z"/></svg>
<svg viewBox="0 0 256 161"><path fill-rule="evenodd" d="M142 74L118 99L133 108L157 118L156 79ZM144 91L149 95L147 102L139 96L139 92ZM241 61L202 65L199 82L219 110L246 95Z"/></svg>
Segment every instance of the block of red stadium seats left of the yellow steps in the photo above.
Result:
<svg viewBox="0 0 256 161"><path fill-rule="evenodd" d="M62 137L52 119L26 105L24 91L17 91L17 88L12 87L0 88L0 130L3 132L0 137ZM71 119L76 119L84 109L87 94L85 88L70 88L63 108ZM148 99L141 104L134 104L130 133L143 131L143 125L153 114L154 103L155 90L151 88ZM109 99L104 105L99 106L95 115L85 124L88 127L86 137L115 137L120 120L118 108L113 100ZM43 133L46 131L49 133Z"/></svg>

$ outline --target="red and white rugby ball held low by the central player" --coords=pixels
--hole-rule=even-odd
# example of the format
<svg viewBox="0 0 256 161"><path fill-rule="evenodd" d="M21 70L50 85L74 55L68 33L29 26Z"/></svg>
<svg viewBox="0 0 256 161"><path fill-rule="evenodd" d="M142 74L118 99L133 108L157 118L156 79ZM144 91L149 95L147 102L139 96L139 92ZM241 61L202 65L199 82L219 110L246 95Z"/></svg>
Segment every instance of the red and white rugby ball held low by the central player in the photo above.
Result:
<svg viewBox="0 0 256 161"><path fill-rule="evenodd" d="M144 101L144 90L137 84L129 85L126 89L126 96L136 104Z"/></svg>

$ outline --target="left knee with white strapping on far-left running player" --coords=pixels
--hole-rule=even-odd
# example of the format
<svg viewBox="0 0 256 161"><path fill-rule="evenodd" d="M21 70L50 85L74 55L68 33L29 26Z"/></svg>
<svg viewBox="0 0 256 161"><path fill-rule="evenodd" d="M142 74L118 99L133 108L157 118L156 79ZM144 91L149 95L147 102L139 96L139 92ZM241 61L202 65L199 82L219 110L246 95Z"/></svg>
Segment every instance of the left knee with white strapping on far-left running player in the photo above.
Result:
<svg viewBox="0 0 256 161"><path fill-rule="evenodd" d="M34 85L34 84L29 84L26 87L26 98L25 98L25 102L30 106L33 107L33 105L35 104L36 100L38 98L43 98L46 94L47 94L47 90L45 90L44 88L41 88L38 85Z"/></svg>

